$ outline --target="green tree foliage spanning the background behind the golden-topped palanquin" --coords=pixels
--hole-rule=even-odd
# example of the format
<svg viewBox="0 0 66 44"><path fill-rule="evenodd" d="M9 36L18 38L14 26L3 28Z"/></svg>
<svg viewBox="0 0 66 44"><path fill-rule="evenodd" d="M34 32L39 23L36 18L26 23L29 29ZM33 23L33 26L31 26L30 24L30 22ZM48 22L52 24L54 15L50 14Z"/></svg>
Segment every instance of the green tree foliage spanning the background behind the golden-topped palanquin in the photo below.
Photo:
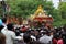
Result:
<svg viewBox="0 0 66 44"><path fill-rule="evenodd" d="M61 25L63 22L62 23L58 22L62 21L62 15L63 16L66 15L65 3L59 6L59 10L53 7L52 1L46 1L46 0L45 1L44 0L7 0L7 4L11 9L9 15L23 16L23 18L33 14L36 11L37 7L41 4L43 9L47 12L47 14L51 14L53 16L54 25Z"/></svg>

